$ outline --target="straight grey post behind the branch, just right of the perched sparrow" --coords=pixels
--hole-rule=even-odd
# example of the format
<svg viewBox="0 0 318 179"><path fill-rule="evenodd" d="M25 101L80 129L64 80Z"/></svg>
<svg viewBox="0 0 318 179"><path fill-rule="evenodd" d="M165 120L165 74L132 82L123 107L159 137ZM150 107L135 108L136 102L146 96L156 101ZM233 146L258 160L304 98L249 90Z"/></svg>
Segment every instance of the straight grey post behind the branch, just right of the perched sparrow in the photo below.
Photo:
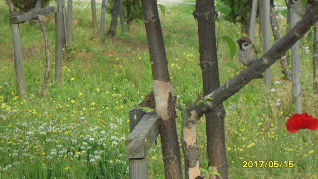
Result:
<svg viewBox="0 0 318 179"><path fill-rule="evenodd" d="M264 54L270 49L270 21L269 21L269 0L263 1L263 52ZM264 83L267 88L271 85L271 68L265 70L264 73Z"/></svg>

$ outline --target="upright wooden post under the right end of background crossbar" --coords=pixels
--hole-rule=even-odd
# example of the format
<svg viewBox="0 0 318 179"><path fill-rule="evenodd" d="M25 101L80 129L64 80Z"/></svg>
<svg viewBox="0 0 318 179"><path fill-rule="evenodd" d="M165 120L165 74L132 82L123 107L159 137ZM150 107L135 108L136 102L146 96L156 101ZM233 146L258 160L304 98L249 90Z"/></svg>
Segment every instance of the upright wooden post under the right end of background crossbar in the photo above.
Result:
<svg viewBox="0 0 318 179"><path fill-rule="evenodd" d="M62 78L62 11L55 12L55 87L61 87Z"/></svg>

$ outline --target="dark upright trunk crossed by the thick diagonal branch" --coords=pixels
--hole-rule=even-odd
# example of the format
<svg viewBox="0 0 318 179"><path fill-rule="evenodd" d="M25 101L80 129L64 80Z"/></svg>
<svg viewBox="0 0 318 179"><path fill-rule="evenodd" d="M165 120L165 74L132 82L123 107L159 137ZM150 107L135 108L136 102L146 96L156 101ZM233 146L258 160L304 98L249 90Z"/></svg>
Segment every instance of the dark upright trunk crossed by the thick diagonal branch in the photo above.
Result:
<svg viewBox="0 0 318 179"><path fill-rule="evenodd" d="M214 0L197 0L194 14L198 20L203 91L204 95L207 95L220 87ZM205 113L208 165L223 179L228 178L224 130L225 114L223 104L218 105L214 111ZM212 179L212 177L215 176L210 178Z"/></svg>

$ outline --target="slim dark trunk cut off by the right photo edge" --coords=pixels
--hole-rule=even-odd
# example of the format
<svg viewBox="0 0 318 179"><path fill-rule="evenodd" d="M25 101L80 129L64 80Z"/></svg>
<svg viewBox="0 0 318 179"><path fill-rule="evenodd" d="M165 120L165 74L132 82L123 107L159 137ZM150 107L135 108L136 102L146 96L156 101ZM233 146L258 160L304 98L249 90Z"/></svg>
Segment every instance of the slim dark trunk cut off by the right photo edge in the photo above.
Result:
<svg viewBox="0 0 318 179"><path fill-rule="evenodd" d="M318 22L315 24L314 38L314 91L318 94Z"/></svg>

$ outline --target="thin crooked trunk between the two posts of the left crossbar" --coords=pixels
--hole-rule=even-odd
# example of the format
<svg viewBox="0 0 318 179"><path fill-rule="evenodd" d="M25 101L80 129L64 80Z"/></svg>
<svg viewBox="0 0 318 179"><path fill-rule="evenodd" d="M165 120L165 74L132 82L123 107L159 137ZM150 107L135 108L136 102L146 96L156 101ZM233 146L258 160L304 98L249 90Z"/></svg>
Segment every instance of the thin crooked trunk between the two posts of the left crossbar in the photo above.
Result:
<svg viewBox="0 0 318 179"><path fill-rule="evenodd" d="M44 35L44 41L45 41L45 72L44 72L44 82L43 82L42 93L41 93L41 97L45 97L47 95L47 90L49 86L49 78L50 78L50 56L49 56L50 52L49 52L49 38L48 38L48 33L46 31L46 28L44 26L43 15L41 14L41 12L37 10L41 8L41 3L42 3L42 0L37 0L35 4L35 8L36 8L36 15L37 15L36 18L38 19L40 23L40 26Z"/></svg>

